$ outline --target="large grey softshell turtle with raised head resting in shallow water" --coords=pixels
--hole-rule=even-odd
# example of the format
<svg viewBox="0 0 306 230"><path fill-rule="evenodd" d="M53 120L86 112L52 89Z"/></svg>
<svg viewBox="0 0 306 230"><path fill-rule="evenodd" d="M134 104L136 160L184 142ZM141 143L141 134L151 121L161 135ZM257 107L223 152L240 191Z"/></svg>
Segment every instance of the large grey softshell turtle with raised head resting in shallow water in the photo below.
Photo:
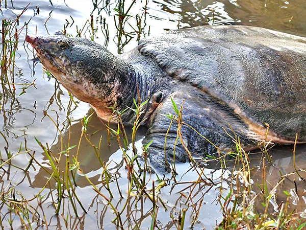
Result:
<svg viewBox="0 0 306 230"><path fill-rule="evenodd" d="M248 26L202 26L142 39L137 48L115 56L101 45L61 33L27 36L41 63L98 117L117 122L111 106L145 101L153 166L169 171L170 160L259 141L306 142L306 38ZM139 93L138 93L139 92ZM165 116L183 104L180 127ZM127 110L122 119L133 121ZM111 117L111 118L110 118ZM266 123L269 124L267 129ZM165 145L165 136L167 142ZM181 143L183 141L184 144Z"/></svg>

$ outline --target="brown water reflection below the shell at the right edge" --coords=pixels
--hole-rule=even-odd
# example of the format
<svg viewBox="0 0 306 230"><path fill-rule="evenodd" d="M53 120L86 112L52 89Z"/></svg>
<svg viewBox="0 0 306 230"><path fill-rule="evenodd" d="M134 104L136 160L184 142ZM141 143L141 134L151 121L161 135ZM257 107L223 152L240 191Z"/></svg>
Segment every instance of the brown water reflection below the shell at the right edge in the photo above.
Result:
<svg viewBox="0 0 306 230"><path fill-rule="evenodd" d="M277 204L286 202L287 196L283 191L287 191L288 193L293 194L290 202L291 208L297 212L303 212L306 209L306 171L304 170L306 169L306 145L300 145L296 148L295 168L292 147L275 147L270 151L270 153L271 162L266 164L264 171L262 167L260 167L260 163L263 159L258 155L253 155L251 157L251 166L254 167L252 176L254 184L262 185L263 173L265 173L265 182L267 182L270 191L279 181L284 179L284 181L277 186ZM260 203L258 206L259 209L263 209Z"/></svg>

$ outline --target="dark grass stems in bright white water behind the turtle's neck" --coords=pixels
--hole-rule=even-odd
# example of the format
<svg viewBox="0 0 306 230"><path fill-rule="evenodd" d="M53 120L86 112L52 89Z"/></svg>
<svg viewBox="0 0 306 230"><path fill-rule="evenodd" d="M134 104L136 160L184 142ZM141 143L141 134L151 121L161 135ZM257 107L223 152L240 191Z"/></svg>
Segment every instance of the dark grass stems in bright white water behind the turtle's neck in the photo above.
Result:
<svg viewBox="0 0 306 230"><path fill-rule="evenodd" d="M93 10L90 14L90 18L85 21L83 25L75 25L76 36L89 37L94 40L98 34L104 36L104 46L107 47L111 39L110 24L115 27L115 36L113 41L117 45L117 53L123 53L125 45L129 44L133 38L138 41L141 36L149 34L150 26L146 30L146 14L148 1L144 2L143 11L141 14L130 14L132 8L136 5L136 1L133 0L128 5L126 1L120 0L115 3L115 7L111 9L110 1L92 1ZM103 15L103 10L106 15ZM113 21L109 19L113 17ZM67 32L69 28L74 25L74 19L71 15L66 19L66 24L63 28L63 33L67 36L72 36Z"/></svg>

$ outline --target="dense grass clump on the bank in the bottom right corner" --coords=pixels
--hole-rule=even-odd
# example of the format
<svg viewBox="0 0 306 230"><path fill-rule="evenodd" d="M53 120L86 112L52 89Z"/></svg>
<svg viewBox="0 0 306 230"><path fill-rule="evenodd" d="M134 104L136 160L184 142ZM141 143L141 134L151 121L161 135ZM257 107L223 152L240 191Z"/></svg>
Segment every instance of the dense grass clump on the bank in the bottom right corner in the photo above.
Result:
<svg viewBox="0 0 306 230"><path fill-rule="evenodd" d="M266 143L266 145L270 144ZM232 176L232 181L235 181L235 183L234 185L231 183L230 193L226 197L221 197L219 201L222 204L223 221L217 229L239 229L243 227L248 229L296 229L295 227L304 226L306 222L289 209L291 194L287 191L284 191L287 196L286 201L278 206L278 211L271 212L271 202L274 202L271 200L275 200L276 190L282 185L285 178L281 177L273 188L268 189L265 169L266 164L269 164L270 161L265 157L267 152L262 152L263 170L260 193L254 193L253 191L256 189L252 187L248 154L243 150L239 141L236 146L238 154L232 174L234 176ZM263 212L260 211L262 208L256 208L256 203L261 203Z"/></svg>

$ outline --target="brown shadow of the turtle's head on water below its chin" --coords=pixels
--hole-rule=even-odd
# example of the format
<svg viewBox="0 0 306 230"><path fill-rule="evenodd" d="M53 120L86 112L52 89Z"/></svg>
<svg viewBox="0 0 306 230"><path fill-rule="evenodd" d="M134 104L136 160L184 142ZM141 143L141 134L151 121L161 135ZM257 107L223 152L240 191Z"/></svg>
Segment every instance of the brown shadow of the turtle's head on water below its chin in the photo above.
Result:
<svg viewBox="0 0 306 230"><path fill-rule="evenodd" d="M87 116L93 113L93 110L90 109L87 112ZM109 126L112 129L116 129L117 125L111 124ZM99 160L97 160L97 156L94 151L94 146L98 148L98 157L102 162L107 162L110 155L118 150L118 143L116 137L114 137L111 133L108 134L108 130L106 124L103 124L93 113L93 116L89 120L89 125L86 131L86 137L82 136L83 126L81 121L76 121L70 127L67 128L67 131L62 133L62 135L58 136L57 143L50 147L50 151L53 154L58 154L62 151L62 145L64 149L67 149L69 146L75 146L73 149L69 151L70 162L72 162L72 157L78 155L78 160L80 162L80 168L83 170L83 173L87 175L91 175L91 172L99 171L101 168L101 164ZM131 140L131 128L126 127L126 134L129 140ZM137 133L136 139L139 140L143 137L144 129L139 129ZM109 136L109 138L108 138ZM88 139L88 140L87 140ZM43 153L42 153L43 154ZM65 158L59 162L59 168L62 171L65 171ZM47 158L43 158L42 164L47 163ZM49 172L52 170L50 169ZM48 173L44 169L40 169L39 172L35 176L35 180L33 181L34 188L43 188L45 185L45 179L48 177ZM100 183L99 175L96 175L94 178L91 177L91 181L95 184ZM54 182L51 187L54 187ZM81 188L90 185L88 181L80 175L75 177L75 182Z"/></svg>

